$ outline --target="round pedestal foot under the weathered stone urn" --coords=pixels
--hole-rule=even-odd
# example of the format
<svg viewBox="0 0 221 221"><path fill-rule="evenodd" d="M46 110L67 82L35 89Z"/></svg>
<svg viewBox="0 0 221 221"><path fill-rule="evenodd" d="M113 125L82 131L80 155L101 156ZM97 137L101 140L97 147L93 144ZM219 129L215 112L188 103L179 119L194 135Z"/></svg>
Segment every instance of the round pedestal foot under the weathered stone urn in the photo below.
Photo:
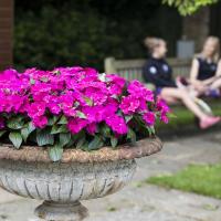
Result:
<svg viewBox="0 0 221 221"><path fill-rule="evenodd" d="M35 215L48 221L82 221L88 210L78 201L71 204L44 201L35 209Z"/></svg>

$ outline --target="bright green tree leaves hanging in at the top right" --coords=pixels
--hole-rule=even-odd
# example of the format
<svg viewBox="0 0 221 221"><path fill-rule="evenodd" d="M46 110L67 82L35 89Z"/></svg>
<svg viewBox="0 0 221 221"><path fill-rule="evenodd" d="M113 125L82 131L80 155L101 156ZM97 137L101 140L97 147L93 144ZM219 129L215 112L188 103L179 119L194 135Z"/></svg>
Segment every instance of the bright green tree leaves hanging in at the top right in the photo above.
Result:
<svg viewBox="0 0 221 221"><path fill-rule="evenodd" d="M217 3L218 1L219 0L162 0L164 3L178 8L182 15L192 14L201 7Z"/></svg>

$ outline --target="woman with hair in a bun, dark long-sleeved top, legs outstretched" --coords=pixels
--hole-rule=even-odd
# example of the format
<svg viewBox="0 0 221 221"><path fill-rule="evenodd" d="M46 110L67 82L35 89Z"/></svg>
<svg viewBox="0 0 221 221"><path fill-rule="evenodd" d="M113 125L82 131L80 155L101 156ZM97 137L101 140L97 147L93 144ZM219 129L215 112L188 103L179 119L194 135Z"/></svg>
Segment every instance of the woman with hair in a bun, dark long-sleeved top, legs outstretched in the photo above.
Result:
<svg viewBox="0 0 221 221"><path fill-rule="evenodd" d="M209 128L220 122L220 117L210 116L203 113L193 102L187 88L178 88L172 78L172 70L165 60L167 53L167 44L162 39L146 38L150 57L144 66L144 78L147 83L156 86L156 93L168 103L181 101L198 118L201 129Z"/></svg>

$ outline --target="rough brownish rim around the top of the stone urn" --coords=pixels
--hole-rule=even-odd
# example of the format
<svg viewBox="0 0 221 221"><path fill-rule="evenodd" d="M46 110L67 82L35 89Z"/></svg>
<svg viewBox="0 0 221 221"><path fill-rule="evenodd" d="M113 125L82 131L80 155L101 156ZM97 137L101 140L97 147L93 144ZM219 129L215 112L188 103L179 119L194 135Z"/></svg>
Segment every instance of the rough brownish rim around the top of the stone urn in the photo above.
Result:
<svg viewBox="0 0 221 221"><path fill-rule="evenodd" d="M136 143L136 146L122 145L117 149L103 147L99 150L83 151L81 149L64 149L61 162L103 162L141 158L160 151L162 143L158 137L146 138ZM48 150L38 146L24 146L14 149L12 145L0 146L0 160L10 159L14 161L52 162Z"/></svg>

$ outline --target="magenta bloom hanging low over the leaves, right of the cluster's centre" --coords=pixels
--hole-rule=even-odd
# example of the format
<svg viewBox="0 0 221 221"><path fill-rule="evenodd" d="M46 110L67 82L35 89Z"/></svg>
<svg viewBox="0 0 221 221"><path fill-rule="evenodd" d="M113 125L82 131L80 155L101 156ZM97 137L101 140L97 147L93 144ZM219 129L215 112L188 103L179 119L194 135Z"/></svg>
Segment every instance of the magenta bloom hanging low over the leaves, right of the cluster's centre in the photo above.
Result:
<svg viewBox="0 0 221 221"><path fill-rule="evenodd" d="M118 115L110 115L105 119L106 124L113 129L113 131L125 135L127 134L127 125L123 117Z"/></svg>

